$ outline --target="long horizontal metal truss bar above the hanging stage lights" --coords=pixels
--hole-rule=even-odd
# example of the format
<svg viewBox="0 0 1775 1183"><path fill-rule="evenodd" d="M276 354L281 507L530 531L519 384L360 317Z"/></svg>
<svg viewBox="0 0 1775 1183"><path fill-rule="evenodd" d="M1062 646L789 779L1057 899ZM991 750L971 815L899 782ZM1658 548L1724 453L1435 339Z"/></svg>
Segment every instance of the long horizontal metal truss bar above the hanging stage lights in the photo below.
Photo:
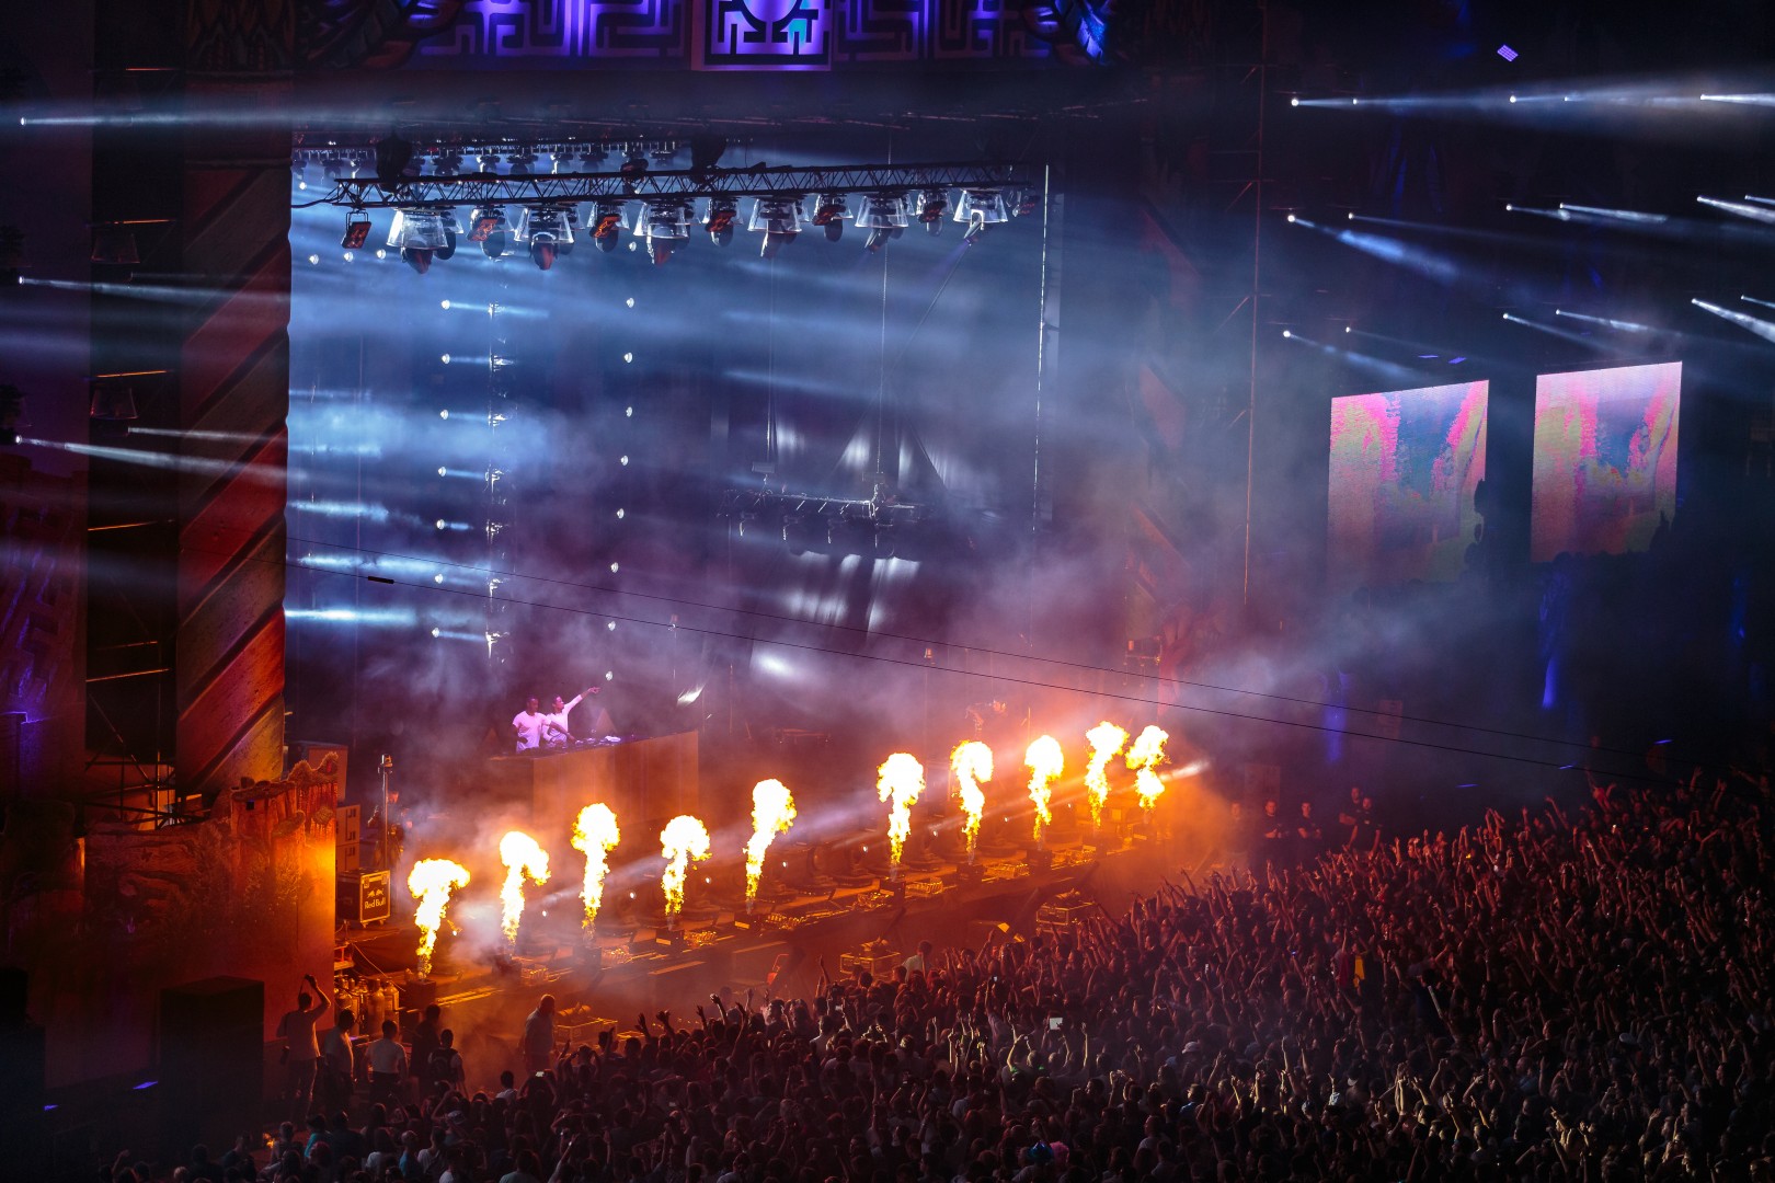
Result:
<svg viewBox="0 0 1775 1183"><path fill-rule="evenodd" d="M588 200L690 200L694 197L806 197L809 193L907 193L927 188L1006 190L1033 186L1019 165L793 165L758 168L674 168L625 176L573 172L440 177L335 177L320 200L343 209L399 206L547 206Z"/></svg>

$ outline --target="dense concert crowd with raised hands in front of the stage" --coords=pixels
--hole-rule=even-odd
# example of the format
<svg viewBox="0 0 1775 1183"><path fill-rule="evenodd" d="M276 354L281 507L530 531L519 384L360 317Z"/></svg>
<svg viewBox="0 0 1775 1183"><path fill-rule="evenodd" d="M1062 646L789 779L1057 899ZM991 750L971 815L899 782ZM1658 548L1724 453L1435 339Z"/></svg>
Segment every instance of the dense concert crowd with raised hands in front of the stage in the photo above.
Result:
<svg viewBox="0 0 1775 1183"><path fill-rule="evenodd" d="M886 979L822 967L813 997L715 999L589 1046L554 1046L545 1002L540 1071L463 1080L458 1057L421 1098L360 1091L270 1156L185 1171L1775 1179L1770 805L1766 777L1601 786L1571 816L1179 876L1058 938L921 949Z"/></svg>

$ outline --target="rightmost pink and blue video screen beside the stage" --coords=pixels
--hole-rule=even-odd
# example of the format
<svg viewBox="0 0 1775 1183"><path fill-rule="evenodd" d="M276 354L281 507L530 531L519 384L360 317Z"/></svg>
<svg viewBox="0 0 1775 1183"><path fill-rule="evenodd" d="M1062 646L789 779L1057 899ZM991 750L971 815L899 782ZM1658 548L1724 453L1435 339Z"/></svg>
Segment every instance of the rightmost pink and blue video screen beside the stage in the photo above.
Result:
<svg viewBox="0 0 1775 1183"><path fill-rule="evenodd" d="M1535 380L1528 557L1647 550L1676 516L1683 364Z"/></svg>

